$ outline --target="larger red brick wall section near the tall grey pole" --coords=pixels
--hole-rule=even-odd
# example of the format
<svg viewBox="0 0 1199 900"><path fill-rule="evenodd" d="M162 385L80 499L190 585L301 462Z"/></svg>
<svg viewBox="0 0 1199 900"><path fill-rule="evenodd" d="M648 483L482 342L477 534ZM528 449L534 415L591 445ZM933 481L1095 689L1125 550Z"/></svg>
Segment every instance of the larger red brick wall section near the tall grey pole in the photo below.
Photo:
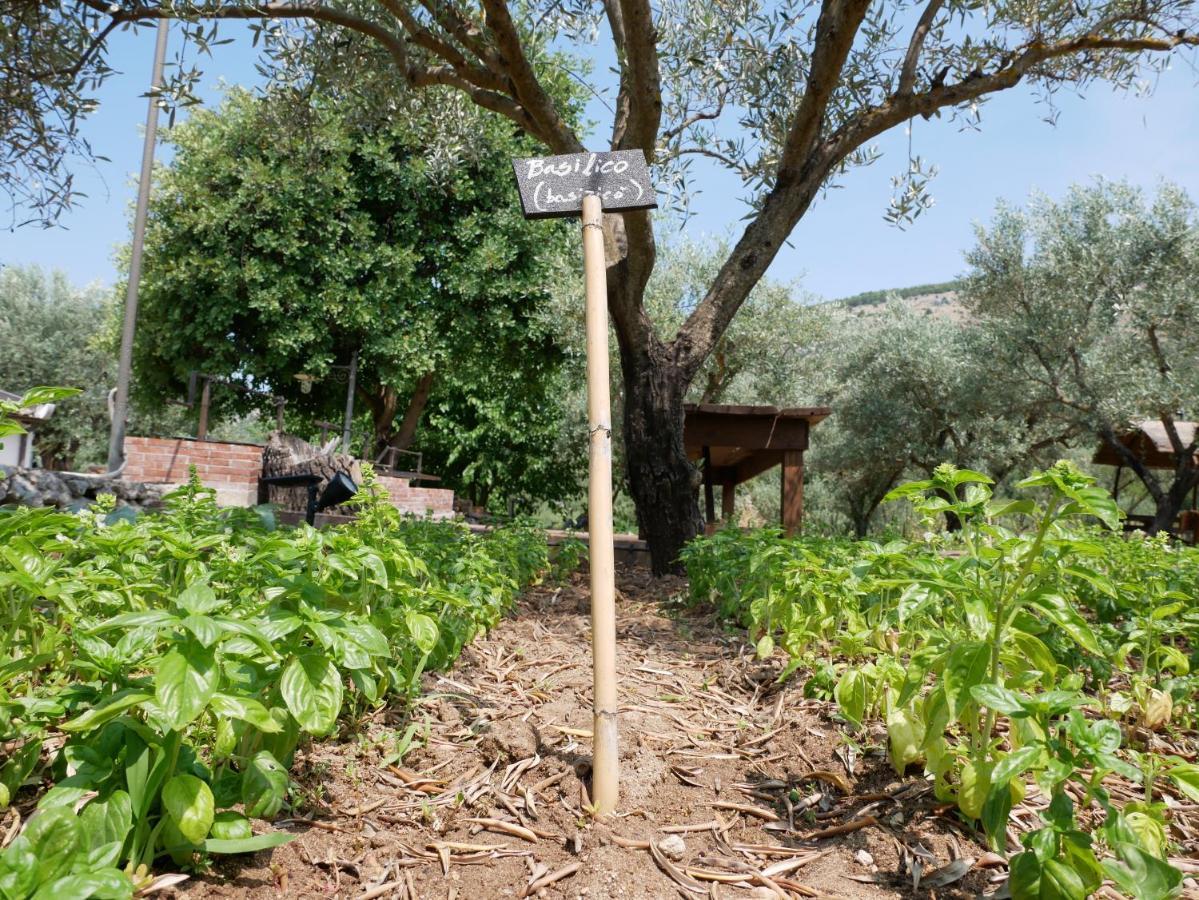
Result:
<svg viewBox="0 0 1199 900"><path fill-rule="evenodd" d="M126 437L122 477L150 484L182 484L188 466L209 488L217 502L251 506L258 497L258 476L263 471L263 448L257 443L197 441L189 437Z"/></svg>

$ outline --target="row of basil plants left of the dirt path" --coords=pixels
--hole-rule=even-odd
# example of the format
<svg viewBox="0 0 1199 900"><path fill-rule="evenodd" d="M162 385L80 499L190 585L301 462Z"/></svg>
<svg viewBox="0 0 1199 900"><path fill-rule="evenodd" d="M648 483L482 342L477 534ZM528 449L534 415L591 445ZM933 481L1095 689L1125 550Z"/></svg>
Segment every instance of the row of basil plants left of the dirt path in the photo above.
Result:
<svg viewBox="0 0 1199 900"><path fill-rule="evenodd" d="M0 898L127 898L168 857L284 842L251 820L301 742L411 697L547 569L534 530L403 520L370 473L355 502L277 528L193 475L161 514L0 511L0 810L37 799Z"/></svg>

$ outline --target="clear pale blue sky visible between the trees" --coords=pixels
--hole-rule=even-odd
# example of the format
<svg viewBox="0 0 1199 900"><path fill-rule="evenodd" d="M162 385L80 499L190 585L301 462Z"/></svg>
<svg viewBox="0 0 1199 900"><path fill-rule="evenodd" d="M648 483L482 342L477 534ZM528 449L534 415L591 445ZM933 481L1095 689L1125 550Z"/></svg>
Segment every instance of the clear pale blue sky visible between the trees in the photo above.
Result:
<svg viewBox="0 0 1199 900"><path fill-rule="evenodd" d="M100 110L85 127L96 152L112 162L78 169L77 183L89 197L61 228L0 232L0 262L64 268L78 283L114 280L114 250L128 240L127 210L146 111L140 95L149 84L152 50L152 29L114 38L110 61L122 74L104 85ZM204 96L218 98L221 80L255 83L253 53L245 40L215 48L213 59L205 61ZM1059 195L1072 182L1096 176L1147 188L1168 179L1199 199L1197 83L1192 60L1177 56L1147 97L1105 86L1086 97L1060 95L1056 126L1043 121L1047 109L1023 87L988 102L978 132L917 119L912 151L939 168L932 182L935 206L906 230L884 222L891 177L906 167L908 135L896 129L879 141L880 161L850 173L842 188L817 201L770 276L799 279L805 290L825 297L946 280L962 271L972 224L989 218L998 199L1023 201L1031 191ZM602 120L601 110L595 117ZM700 187L688 231L735 234L745 215L736 181L710 174Z"/></svg>

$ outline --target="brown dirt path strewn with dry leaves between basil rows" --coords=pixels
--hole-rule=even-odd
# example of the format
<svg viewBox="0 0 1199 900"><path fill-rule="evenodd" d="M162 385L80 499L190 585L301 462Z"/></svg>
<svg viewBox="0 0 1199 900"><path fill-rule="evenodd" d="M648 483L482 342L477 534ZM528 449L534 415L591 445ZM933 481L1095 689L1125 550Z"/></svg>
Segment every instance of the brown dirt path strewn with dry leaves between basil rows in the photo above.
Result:
<svg viewBox="0 0 1199 900"><path fill-rule="evenodd" d="M426 678L427 741L403 768L380 765L399 727L386 717L315 745L300 766L312 819L275 823L300 836L182 894L885 898L911 895L914 868L924 896L942 878L941 896L994 889L966 862L983 851L923 781L894 778L879 733L854 749L743 634L663 605L681 581L621 574L620 815L585 811L586 585L538 588Z"/></svg>

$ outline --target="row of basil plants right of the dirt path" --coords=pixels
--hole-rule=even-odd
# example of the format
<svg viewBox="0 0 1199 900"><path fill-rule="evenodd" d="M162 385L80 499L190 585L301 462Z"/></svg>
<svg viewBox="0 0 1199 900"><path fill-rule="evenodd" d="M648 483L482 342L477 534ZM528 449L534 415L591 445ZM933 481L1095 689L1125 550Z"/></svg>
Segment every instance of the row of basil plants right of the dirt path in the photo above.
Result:
<svg viewBox="0 0 1199 900"><path fill-rule="evenodd" d="M1111 497L1070 464L1018 489L998 500L948 465L898 488L928 526L917 540L724 531L686 549L691 597L761 657L782 647L783 677L851 726L881 720L894 769L922 768L995 851L1035 784L1048 804L1011 856L1012 896L1104 882L1170 896L1163 792L1199 802L1199 765L1137 736L1195 744L1199 550L1122 537ZM1109 777L1140 798L1117 803Z"/></svg>

